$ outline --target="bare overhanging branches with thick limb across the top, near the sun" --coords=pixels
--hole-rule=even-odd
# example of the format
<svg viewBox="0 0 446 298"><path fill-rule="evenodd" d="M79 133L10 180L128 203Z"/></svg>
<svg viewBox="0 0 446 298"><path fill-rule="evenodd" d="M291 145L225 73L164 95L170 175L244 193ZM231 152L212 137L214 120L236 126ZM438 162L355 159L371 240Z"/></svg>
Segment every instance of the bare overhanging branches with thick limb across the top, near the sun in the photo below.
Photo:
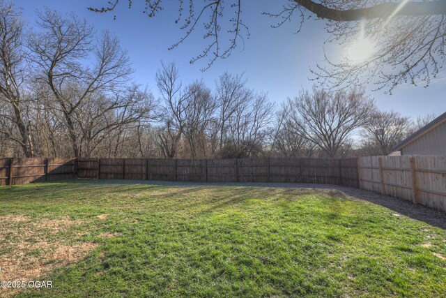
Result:
<svg viewBox="0 0 446 298"><path fill-rule="evenodd" d="M89 10L107 13L122 2L127 1L107 1L106 6L91 6ZM129 8L132 4L136 5L128 1ZM171 9L160 0L144 0L144 5L144 13L149 17L155 17L163 8ZM174 21L184 33L169 49L178 47L196 29L202 29L203 38L209 43L190 62L208 58L203 69L209 68L216 59L229 57L249 38L242 10L249 5L240 0L179 1L178 18ZM370 54L361 61L351 61L348 57L333 59L331 53L326 53L323 62L312 67L313 79L323 87L372 83L375 89L390 93L403 83L427 87L445 64L445 0L283 0L277 6L277 11L264 13L279 20L272 27L295 22L300 31L302 23L313 18L325 22L325 29L330 33L329 43L349 47L358 38L370 41Z"/></svg>

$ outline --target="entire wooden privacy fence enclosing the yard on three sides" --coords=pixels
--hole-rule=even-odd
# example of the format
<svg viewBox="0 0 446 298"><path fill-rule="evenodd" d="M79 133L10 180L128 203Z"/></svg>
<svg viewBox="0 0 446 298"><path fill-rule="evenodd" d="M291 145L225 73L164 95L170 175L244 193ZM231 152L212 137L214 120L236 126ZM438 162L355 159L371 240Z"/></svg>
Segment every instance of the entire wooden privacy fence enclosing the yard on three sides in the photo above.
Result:
<svg viewBox="0 0 446 298"><path fill-rule="evenodd" d="M0 158L0 185L61 179L337 184L446 211L446 156L361 158Z"/></svg>

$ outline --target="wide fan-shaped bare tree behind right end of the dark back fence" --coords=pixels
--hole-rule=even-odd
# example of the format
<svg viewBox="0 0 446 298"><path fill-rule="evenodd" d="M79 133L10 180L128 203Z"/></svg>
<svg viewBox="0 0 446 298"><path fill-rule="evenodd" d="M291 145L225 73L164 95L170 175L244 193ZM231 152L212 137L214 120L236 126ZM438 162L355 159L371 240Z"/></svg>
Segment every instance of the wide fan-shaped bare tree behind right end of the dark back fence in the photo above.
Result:
<svg viewBox="0 0 446 298"><path fill-rule="evenodd" d="M334 158L356 129L369 123L375 110L374 100L364 89L324 91L313 88L288 100L293 133L316 144L328 157Z"/></svg>

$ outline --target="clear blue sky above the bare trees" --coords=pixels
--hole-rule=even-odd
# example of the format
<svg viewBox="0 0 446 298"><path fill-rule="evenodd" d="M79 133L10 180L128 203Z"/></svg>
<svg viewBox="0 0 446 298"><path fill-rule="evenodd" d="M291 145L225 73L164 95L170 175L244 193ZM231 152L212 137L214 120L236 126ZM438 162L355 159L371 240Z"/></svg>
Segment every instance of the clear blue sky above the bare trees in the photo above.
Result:
<svg viewBox="0 0 446 298"><path fill-rule="evenodd" d="M270 100L281 103L287 97L298 94L302 88L309 89L313 77L309 68L323 60L323 42L328 35L325 33L322 21L305 22L302 31L294 34L297 23L289 23L284 27L272 29L270 25L277 22L263 11L277 12L286 0L244 1L244 21L249 26L251 37L245 42L245 48L236 49L231 57L216 63L205 72L206 60L190 64L192 57L203 50L202 32L197 31L192 38L174 50L167 48L178 41L183 31L174 24L176 10L163 10L155 18L144 15L144 1L134 0L132 9L128 9L128 1L121 0L116 10L116 20L113 13L93 13L88 6L104 6L106 1L98 0L16 0L17 7L22 8L22 17L29 26L36 20L36 10L43 6L60 12L75 12L84 17L95 28L109 29L121 40L121 45L128 50L135 70L134 79L139 84L148 84L157 96L155 72L160 68L160 61L176 61L180 68L183 82L203 79L212 85L218 75L228 70L230 73L244 73L249 87L256 91L268 92ZM176 1L166 1L171 6ZM249 4L255 3L255 4ZM325 46L327 49L327 46ZM341 47L330 46L331 51L342 51ZM336 53L334 53L336 54ZM427 113L441 114L446 111L446 74L441 73L438 80L428 88L403 85L397 87L393 95L382 91L371 91L368 94L376 99L381 110L393 109L409 117L417 117Z"/></svg>

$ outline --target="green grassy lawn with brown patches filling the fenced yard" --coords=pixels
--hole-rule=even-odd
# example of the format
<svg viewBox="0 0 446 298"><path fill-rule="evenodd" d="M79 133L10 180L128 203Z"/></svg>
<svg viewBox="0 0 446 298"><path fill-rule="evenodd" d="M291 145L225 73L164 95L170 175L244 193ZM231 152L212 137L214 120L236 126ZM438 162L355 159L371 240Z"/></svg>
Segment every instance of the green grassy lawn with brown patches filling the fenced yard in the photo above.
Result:
<svg viewBox="0 0 446 298"><path fill-rule="evenodd" d="M20 297L445 297L446 230L337 191L63 181L0 188ZM137 181L134 183L138 183Z"/></svg>

